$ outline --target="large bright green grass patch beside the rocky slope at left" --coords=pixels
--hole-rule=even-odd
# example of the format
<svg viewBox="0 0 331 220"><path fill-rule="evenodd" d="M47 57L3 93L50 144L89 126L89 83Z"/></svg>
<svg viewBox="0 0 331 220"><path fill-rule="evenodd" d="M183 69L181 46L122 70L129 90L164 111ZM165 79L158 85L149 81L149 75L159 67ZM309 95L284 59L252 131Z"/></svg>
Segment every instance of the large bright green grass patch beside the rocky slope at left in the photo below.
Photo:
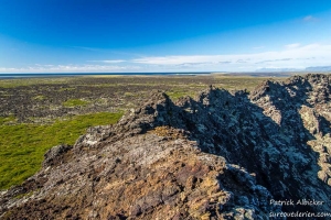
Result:
<svg viewBox="0 0 331 220"><path fill-rule="evenodd" d="M57 120L46 125L1 123L0 189L22 184L35 174L41 168L45 152L52 146L74 144L88 127L116 123L121 116L121 112L100 112Z"/></svg>

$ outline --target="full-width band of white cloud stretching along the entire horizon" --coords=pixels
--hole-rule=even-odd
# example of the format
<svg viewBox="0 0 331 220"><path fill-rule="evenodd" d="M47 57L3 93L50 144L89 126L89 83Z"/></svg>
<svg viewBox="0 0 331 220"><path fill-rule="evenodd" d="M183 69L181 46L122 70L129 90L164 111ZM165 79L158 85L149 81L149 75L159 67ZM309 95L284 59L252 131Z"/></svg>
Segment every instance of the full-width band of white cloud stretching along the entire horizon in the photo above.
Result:
<svg viewBox="0 0 331 220"><path fill-rule="evenodd" d="M104 59L93 65L32 65L0 68L0 73L132 73L132 72L252 72L259 68L306 68L331 65L331 44L299 43L280 51L247 54L147 56L135 59ZM94 62L94 61L92 61Z"/></svg>

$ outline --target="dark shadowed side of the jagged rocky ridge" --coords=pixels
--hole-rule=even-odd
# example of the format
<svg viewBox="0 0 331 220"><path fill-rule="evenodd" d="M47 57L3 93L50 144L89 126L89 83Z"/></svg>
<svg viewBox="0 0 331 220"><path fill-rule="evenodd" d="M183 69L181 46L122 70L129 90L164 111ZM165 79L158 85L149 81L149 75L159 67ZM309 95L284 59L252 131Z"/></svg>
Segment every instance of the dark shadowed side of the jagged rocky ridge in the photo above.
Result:
<svg viewBox="0 0 331 220"><path fill-rule="evenodd" d="M257 183L267 187L275 199L327 202L330 177L318 176L321 153L308 144L318 138L302 119L303 107L316 107L311 94L317 85L311 80L320 84L322 79L312 75L292 77L287 84L266 81L249 96L211 87L196 99L186 97L175 103L167 95L157 94L145 108L130 113L135 117L128 119L134 121L124 118L119 124L124 128L136 124L134 130L139 128L139 133L164 125L183 130L203 152L224 156L228 163L255 173ZM324 94L329 91L327 87ZM319 99L318 103L328 101L329 97ZM330 121L319 114L316 130L319 135L329 135ZM284 206L282 210L330 210L325 202L324 206Z"/></svg>

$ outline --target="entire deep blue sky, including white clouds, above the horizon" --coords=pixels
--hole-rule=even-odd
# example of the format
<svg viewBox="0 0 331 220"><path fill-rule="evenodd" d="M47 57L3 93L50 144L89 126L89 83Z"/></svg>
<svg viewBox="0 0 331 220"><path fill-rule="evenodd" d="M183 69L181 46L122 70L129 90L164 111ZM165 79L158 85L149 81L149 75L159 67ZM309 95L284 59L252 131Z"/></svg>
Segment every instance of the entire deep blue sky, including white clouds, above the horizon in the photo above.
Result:
<svg viewBox="0 0 331 220"><path fill-rule="evenodd" d="M331 66L330 0L0 0L0 73Z"/></svg>

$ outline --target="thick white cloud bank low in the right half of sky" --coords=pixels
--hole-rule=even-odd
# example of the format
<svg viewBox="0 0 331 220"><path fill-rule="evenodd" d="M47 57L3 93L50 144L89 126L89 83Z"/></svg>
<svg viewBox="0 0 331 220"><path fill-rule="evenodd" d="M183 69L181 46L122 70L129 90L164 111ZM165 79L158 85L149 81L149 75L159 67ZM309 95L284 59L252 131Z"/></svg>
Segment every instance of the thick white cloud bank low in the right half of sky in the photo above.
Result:
<svg viewBox="0 0 331 220"><path fill-rule="evenodd" d="M183 66L185 64L202 64L207 69L233 70L243 67L247 70L277 66L279 68L305 68L307 66L323 66L331 64L331 45L299 43L289 44L282 51L270 51L250 54L194 55L194 56L150 56L131 62L146 65ZM314 57L314 58L312 58ZM199 69L196 69L199 70Z"/></svg>

